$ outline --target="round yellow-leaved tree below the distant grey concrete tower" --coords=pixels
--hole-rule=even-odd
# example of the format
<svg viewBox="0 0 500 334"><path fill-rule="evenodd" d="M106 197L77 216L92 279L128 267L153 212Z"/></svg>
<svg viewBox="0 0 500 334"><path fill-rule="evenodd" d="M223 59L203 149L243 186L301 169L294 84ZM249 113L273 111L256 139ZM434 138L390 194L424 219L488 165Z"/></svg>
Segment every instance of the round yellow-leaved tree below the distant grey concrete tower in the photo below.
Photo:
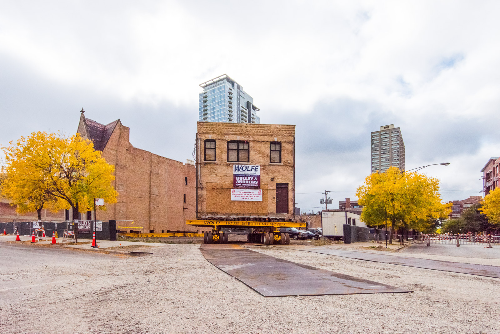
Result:
<svg viewBox="0 0 500 334"><path fill-rule="evenodd" d="M389 242L397 227L422 230L429 225L429 218L444 218L451 204L441 203L438 193L439 180L417 172L402 173L397 167L389 167L383 173L372 173L357 188L358 202L363 205L361 219L370 225L382 225L390 221Z"/></svg>

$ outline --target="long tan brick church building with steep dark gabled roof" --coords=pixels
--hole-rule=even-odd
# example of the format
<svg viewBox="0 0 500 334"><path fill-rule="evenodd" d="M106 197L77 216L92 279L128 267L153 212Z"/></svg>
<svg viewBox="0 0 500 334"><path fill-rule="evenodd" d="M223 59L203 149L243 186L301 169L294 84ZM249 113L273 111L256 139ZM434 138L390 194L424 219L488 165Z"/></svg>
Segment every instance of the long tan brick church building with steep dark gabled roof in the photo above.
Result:
<svg viewBox="0 0 500 334"><path fill-rule="evenodd" d="M82 109L83 111L83 109ZM97 219L115 219L118 226L143 227L145 233L190 231L186 219L195 216L195 168L134 147L129 141L130 128L119 119L101 124L80 115L78 133L91 139L94 149L102 151L107 163L114 165L117 203L97 210ZM71 212L66 212L71 217ZM93 219L93 212L87 212ZM129 231L140 228L118 228Z"/></svg>

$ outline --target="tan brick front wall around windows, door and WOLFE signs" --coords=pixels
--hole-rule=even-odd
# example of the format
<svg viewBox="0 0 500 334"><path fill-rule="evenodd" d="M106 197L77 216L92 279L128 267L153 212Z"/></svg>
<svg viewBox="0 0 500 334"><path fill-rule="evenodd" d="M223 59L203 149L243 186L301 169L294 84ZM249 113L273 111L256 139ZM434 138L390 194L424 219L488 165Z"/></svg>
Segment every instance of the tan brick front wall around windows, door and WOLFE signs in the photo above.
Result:
<svg viewBox="0 0 500 334"><path fill-rule="evenodd" d="M293 217L295 125L198 122L197 217ZM216 161L204 161L204 140L216 141ZM249 162L228 162L227 141L249 142ZM269 144L281 142L281 163L269 162ZM260 165L262 201L231 201L233 164ZM271 179L272 178L272 179ZM276 183L288 183L288 213L276 213Z"/></svg>

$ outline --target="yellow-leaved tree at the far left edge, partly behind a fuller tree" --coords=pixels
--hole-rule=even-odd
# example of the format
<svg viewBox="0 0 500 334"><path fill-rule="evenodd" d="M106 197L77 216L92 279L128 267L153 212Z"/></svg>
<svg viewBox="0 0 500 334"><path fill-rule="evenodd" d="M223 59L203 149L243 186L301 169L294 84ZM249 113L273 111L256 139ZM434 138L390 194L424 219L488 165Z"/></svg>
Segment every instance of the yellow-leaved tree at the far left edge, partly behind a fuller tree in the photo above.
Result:
<svg viewBox="0 0 500 334"><path fill-rule="evenodd" d="M47 176L36 168L34 160L28 158L36 149L40 133L28 137L20 137L10 146L2 147L5 155L5 166L2 166L1 195L10 200L10 205L17 205L19 213L36 211L41 220L42 208L58 211L61 208L59 198L45 189Z"/></svg>

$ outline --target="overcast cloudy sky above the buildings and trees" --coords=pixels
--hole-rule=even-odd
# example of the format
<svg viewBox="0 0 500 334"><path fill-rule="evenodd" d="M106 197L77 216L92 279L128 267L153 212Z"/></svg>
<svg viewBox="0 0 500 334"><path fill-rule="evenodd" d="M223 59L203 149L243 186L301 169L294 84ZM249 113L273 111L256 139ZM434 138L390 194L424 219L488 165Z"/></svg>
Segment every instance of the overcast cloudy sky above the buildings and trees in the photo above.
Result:
<svg viewBox="0 0 500 334"><path fill-rule="evenodd" d="M296 201L333 208L399 126L444 200L500 155L498 1L0 1L0 144L120 118L135 147L192 158L199 83L226 73L262 123L296 124Z"/></svg>

